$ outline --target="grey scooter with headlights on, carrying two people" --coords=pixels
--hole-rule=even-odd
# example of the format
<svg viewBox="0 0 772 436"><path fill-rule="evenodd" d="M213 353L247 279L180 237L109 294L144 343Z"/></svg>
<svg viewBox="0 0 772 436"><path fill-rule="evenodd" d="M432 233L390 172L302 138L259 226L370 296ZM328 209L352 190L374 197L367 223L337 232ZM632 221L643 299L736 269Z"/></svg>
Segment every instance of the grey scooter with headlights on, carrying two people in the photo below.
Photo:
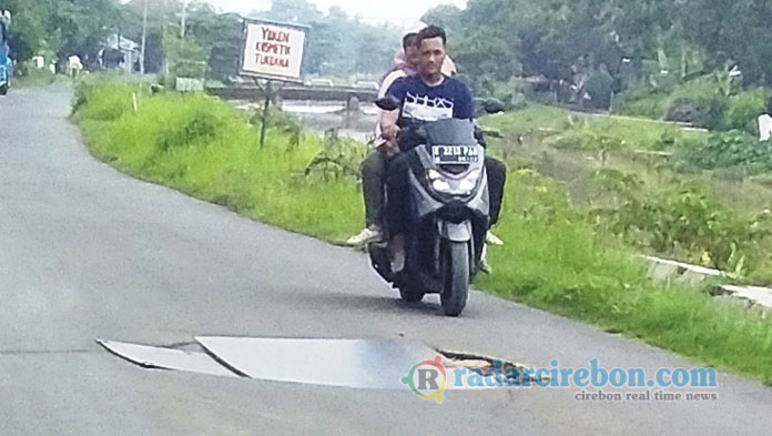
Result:
<svg viewBox="0 0 772 436"><path fill-rule="evenodd" d="M392 111L399 103L385 98L376 104ZM439 294L445 315L459 316L479 271L490 222L485 148L471 120L439 120L403 132L418 139L417 162L407 175L405 266L392 271L384 242L368 244L370 263L399 290L402 300L416 303L427 294Z"/></svg>

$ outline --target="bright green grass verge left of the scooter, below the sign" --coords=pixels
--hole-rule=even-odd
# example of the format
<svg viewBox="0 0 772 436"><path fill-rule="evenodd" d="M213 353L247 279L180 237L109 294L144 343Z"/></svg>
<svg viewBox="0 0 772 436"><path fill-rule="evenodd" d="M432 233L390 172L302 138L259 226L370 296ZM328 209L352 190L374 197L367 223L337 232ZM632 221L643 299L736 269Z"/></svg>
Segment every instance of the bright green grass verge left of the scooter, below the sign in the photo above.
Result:
<svg viewBox="0 0 772 436"><path fill-rule="evenodd" d="M143 95L134 113L131 85L111 85L93 91L75 120L93 153L122 171L268 224L341 242L364 221L351 181L304 175L321 140L288 150L271 134L261 151L257 131L219 100Z"/></svg>

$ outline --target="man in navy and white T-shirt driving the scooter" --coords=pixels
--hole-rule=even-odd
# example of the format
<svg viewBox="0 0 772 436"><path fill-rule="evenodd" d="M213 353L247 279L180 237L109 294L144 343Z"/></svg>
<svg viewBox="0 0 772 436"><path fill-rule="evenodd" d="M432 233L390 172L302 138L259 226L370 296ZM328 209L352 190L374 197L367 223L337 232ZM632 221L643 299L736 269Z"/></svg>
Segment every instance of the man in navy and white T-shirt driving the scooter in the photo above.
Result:
<svg viewBox="0 0 772 436"><path fill-rule="evenodd" d="M396 142L399 130L410 122L431 122L440 119L474 120L475 108L471 91L461 81L443 74L447 36L438 27L430 26L418 33L418 74L398 79L386 92L400 103L400 110L386 112L382 118L383 136ZM389 162L387 175L386 222L392 233L393 271L402 271L405 264L404 231L407 221L407 171L415 159L415 144L399 143L402 153ZM506 168L504 163L486 156L486 172L490 193L490 225L497 223L501 207ZM488 237L490 239L490 236Z"/></svg>

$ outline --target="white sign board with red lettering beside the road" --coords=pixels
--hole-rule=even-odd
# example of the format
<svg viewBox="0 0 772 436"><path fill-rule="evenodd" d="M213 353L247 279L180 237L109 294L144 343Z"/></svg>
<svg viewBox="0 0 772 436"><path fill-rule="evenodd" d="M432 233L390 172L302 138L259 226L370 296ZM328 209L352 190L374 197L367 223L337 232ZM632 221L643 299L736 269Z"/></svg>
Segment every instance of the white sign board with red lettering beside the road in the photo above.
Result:
<svg viewBox="0 0 772 436"><path fill-rule="evenodd" d="M240 75L301 81L306 28L245 20Z"/></svg>

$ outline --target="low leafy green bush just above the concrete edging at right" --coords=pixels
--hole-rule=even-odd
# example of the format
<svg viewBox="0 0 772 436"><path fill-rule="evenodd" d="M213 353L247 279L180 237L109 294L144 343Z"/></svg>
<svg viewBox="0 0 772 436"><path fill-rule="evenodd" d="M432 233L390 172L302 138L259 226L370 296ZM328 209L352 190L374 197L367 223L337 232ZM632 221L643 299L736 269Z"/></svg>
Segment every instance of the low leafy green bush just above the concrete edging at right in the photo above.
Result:
<svg viewBox="0 0 772 436"><path fill-rule="evenodd" d="M637 178L611 170L596 172L593 181L613 195L610 205L589 214L600 231L658 254L737 274L756 271L769 260L770 220L733 212L702 184L681 182L647 193Z"/></svg>

